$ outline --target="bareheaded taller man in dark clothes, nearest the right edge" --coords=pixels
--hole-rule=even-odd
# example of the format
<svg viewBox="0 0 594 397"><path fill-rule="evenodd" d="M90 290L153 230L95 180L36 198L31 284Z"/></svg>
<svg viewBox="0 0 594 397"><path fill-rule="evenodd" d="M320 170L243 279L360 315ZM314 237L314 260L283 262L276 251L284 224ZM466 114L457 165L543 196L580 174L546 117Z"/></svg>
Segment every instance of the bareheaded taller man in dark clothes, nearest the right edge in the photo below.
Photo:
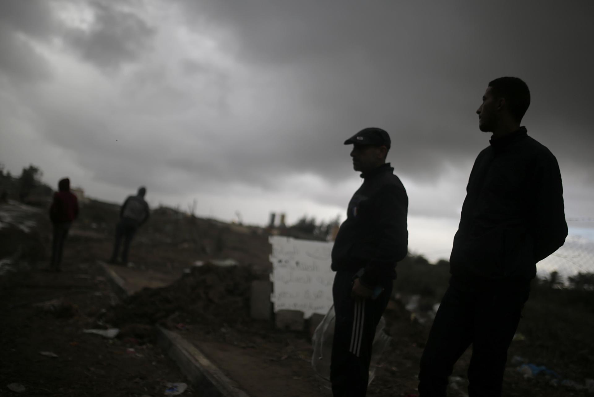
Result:
<svg viewBox="0 0 594 397"><path fill-rule="evenodd" d="M448 287L421 358L419 393L445 396L454 363L472 344L470 397L501 396L507 349L528 299L536 262L567 236L557 159L520 121L526 83L489 83L479 128L493 133L476 158L450 256Z"/></svg>

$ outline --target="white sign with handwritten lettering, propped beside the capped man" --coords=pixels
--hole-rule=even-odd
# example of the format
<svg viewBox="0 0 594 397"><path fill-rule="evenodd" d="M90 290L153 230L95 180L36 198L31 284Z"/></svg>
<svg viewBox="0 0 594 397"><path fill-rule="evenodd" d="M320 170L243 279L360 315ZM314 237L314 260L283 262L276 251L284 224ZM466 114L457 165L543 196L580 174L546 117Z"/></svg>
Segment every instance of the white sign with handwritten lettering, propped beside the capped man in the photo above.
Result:
<svg viewBox="0 0 594 397"><path fill-rule="evenodd" d="M332 300L334 272L330 270L333 242L295 240L271 236L274 312L301 310L307 319L314 313L326 314Z"/></svg>

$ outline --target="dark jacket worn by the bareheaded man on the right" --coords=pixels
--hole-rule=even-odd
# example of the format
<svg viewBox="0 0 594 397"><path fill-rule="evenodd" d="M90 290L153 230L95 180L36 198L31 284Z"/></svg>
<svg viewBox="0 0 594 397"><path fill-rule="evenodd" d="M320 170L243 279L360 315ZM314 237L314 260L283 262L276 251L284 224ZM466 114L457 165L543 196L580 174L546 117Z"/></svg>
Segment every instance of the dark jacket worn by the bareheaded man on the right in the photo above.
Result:
<svg viewBox="0 0 594 397"><path fill-rule="evenodd" d="M555 156L524 127L491 140L470 172L450 272L479 280L530 280L536 262L561 247L565 237Z"/></svg>

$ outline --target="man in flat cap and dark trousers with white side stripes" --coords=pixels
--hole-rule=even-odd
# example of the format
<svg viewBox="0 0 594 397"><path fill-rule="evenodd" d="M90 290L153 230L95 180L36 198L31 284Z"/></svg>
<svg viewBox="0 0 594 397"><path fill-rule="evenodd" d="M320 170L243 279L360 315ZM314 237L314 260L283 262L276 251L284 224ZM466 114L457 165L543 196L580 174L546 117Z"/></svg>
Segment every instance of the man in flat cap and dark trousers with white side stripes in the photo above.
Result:
<svg viewBox="0 0 594 397"><path fill-rule="evenodd" d="M365 128L353 144L353 168L363 184L350 199L332 249L336 323L330 364L334 396L365 396L375 328L386 310L396 262L407 253L408 197L386 163L390 136Z"/></svg>

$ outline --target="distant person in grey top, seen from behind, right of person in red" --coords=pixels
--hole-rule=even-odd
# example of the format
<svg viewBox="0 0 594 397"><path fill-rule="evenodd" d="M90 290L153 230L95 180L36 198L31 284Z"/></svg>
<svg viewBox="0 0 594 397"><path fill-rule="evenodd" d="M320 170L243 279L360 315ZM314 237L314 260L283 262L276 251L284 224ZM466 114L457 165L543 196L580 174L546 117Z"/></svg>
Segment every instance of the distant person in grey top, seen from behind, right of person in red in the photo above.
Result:
<svg viewBox="0 0 594 397"><path fill-rule="evenodd" d="M119 245L122 238L124 238L122 264L128 263L128 249L132 237L134 237L138 227L149 219L149 204L144 200L146 191L146 188L141 187L138 189L136 196L128 196L124 201L124 205L119 211L119 222L115 229L115 244L113 245L113 253L109 263L118 263Z"/></svg>

